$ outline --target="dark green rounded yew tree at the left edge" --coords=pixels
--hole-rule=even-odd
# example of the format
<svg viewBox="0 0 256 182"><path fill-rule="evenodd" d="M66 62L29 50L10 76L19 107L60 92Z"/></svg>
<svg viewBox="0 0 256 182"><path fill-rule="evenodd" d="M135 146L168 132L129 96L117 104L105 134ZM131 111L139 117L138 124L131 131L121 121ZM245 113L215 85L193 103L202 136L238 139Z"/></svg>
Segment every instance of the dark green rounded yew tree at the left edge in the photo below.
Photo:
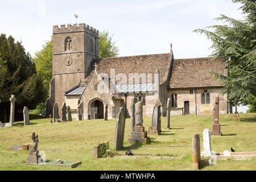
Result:
<svg viewBox="0 0 256 182"><path fill-rule="evenodd" d="M25 52L21 42L12 36L0 35L0 104L1 110L9 111L11 94L17 98L15 110L22 113L23 107L35 109L45 100L43 80L36 74L34 61Z"/></svg>

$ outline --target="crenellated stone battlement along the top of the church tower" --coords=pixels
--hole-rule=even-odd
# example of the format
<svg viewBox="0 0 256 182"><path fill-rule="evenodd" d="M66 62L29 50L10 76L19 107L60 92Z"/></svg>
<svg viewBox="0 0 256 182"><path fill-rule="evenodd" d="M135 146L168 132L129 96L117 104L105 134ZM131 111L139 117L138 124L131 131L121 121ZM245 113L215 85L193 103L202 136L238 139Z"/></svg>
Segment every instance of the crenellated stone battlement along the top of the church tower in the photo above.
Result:
<svg viewBox="0 0 256 182"><path fill-rule="evenodd" d="M81 32L81 31L88 32L89 34L92 34L98 38L98 30L96 30L96 28L89 26L89 24L85 24L85 23L79 23L78 25L76 23L74 23L73 25L67 24L67 26L65 24L61 24L60 27L58 25L54 25L52 33L61 34L65 32Z"/></svg>

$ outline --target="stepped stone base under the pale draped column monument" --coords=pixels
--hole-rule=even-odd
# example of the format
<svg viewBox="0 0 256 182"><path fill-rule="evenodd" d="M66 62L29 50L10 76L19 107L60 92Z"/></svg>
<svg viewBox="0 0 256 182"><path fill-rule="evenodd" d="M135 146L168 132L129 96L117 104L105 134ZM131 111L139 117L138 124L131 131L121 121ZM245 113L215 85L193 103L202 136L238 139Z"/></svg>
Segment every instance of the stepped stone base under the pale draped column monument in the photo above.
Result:
<svg viewBox="0 0 256 182"><path fill-rule="evenodd" d="M137 142L150 143L150 137L147 137L147 131L145 131L144 127L134 127L128 142L131 144Z"/></svg>

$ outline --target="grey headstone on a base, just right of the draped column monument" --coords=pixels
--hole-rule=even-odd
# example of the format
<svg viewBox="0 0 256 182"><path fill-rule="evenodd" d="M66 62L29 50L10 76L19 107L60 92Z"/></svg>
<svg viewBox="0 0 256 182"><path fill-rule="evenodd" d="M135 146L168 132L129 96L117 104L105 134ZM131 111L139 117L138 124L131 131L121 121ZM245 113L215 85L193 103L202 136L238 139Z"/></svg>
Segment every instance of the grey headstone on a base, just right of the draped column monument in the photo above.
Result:
<svg viewBox="0 0 256 182"><path fill-rule="evenodd" d="M152 126L148 129L148 134L160 134L161 131L161 120L160 120L160 105L156 104L154 106L152 114Z"/></svg>

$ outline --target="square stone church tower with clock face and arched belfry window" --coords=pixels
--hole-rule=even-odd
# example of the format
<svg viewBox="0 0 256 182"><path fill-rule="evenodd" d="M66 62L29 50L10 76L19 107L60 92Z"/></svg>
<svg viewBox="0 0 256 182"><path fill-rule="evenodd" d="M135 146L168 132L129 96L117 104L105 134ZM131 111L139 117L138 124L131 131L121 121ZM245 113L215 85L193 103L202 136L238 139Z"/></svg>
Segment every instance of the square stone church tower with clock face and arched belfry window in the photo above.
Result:
<svg viewBox="0 0 256 182"><path fill-rule="evenodd" d="M61 24L53 26L52 32L52 80L46 115L52 115L56 102L59 108L65 101L64 92L84 79L93 59L98 58L98 30L88 24ZM59 111L60 113L60 111Z"/></svg>

